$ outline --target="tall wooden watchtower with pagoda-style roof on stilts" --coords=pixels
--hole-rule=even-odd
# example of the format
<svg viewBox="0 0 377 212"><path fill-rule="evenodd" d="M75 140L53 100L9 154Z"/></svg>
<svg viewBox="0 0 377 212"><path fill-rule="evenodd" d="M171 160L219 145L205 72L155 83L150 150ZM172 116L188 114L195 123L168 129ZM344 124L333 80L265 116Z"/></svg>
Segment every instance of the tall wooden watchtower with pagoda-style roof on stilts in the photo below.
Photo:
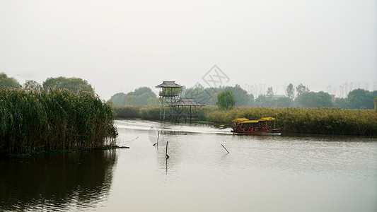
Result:
<svg viewBox="0 0 377 212"><path fill-rule="evenodd" d="M161 110L160 110L160 120L165 120L165 117L170 117L173 115L173 108L168 107L170 110L168 113L166 111L166 106L178 100L182 86L175 83L175 81L163 81L156 88L161 88L159 95L161 96Z"/></svg>

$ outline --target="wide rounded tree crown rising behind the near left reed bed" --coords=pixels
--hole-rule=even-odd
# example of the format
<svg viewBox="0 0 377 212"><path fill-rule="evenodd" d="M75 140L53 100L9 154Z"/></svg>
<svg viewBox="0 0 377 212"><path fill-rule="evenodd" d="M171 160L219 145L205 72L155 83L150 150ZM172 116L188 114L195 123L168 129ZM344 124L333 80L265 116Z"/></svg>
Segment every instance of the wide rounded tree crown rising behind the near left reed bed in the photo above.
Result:
<svg viewBox="0 0 377 212"><path fill-rule="evenodd" d="M66 88L68 90L72 90L74 93L78 93L79 90L83 90L86 92L94 93L92 86L88 83L88 81L83 80L81 78L66 78L64 76L59 76L57 78L47 78L46 81L42 84L45 90L50 90L50 88Z"/></svg>

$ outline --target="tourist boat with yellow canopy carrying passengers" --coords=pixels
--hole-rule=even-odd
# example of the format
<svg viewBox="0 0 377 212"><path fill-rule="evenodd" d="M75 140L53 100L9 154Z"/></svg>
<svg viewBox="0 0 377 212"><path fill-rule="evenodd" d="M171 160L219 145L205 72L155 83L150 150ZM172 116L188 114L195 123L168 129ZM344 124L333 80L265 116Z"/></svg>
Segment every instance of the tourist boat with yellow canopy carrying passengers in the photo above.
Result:
<svg viewBox="0 0 377 212"><path fill-rule="evenodd" d="M268 125L270 121L274 124ZM275 127L275 119L272 117L263 117L257 120L238 118L233 121L233 134L280 134L281 129Z"/></svg>

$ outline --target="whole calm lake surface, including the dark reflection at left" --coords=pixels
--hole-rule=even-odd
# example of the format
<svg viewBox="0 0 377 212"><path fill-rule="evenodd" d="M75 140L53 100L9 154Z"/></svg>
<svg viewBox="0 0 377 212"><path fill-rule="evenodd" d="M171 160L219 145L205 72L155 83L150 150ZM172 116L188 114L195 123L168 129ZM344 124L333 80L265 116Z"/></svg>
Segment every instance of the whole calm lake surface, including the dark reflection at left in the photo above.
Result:
<svg viewBox="0 0 377 212"><path fill-rule="evenodd" d="M129 149L0 158L0 211L377 211L376 137L116 124Z"/></svg>

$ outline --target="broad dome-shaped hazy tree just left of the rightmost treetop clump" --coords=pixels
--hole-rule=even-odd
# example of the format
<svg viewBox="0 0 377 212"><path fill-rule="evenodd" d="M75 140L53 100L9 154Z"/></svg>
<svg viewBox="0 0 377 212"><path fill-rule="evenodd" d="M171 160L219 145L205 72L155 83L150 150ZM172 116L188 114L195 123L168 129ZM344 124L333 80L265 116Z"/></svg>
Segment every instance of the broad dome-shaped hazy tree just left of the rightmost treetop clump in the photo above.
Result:
<svg viewBox="0 0 377 212"><path fill-rule="evenodd" d="M298 98L298 103L301 107L332 107L331 95L320 91L307 92L300 95Z"/></svg>

